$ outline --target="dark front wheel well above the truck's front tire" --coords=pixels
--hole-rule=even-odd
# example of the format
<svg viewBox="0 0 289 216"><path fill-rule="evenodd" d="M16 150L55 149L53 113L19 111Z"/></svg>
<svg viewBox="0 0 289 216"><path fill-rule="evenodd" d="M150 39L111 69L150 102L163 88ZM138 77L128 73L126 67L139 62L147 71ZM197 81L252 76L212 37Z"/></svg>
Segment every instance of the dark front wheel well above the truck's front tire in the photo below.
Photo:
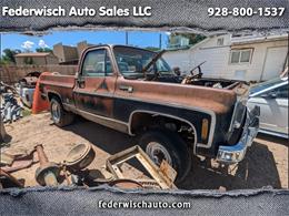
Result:
<svg viewBox="0 0 289 216"><path fill-rule="evenodd" d="M130 116L129 126L131 134L151 128L166 128L179 133L190 147L197 144L196 127L190 122L177 116L155 112L136 112Z"/></svg>

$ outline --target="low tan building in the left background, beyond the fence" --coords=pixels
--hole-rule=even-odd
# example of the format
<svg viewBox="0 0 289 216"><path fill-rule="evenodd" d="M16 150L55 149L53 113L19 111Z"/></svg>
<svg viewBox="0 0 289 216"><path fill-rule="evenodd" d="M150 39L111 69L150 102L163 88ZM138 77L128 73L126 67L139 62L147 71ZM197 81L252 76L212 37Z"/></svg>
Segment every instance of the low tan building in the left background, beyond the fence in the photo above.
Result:
<svg viewBox="0 0 289 216"><path fill-rule="evenodd" d="M37 65L47 65L47 64L58 64L58 58L51 52L28 52L19 53L14 55L17 65L24 64L37 64Z"/></svg>

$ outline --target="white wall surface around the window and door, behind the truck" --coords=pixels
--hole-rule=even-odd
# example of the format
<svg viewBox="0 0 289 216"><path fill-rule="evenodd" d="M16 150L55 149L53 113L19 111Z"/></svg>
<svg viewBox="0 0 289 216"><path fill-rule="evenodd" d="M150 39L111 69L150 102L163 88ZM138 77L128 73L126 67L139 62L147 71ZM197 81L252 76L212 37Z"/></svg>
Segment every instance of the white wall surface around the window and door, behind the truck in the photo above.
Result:
<svg viewBox="0 0 289 216"><path fill-rule="evenodd" d="M223 38L223 45L217 45L218 38ZM231 45L230 35L215 37L199 47L195 47L186 51L170 51L163 54L163 58L171 66L180 66L181 71L189 72L199 63L206 61L201 66L205 76L207 78L222 78L222 79L241 79L246 81L259 81L263 72L266 53L269 48L288 48L288 41L275 41L263 43L252 43L242 45ZM230 50L231 49L253 49L252 59L250 63L231 64ZM287 49L288 52L288 49ZM285 62L283 51L280 50L280 61ZM236 76L236 71L245 71L242 78ZM278 76L280 71L271 72L271 76Z"/></svg>

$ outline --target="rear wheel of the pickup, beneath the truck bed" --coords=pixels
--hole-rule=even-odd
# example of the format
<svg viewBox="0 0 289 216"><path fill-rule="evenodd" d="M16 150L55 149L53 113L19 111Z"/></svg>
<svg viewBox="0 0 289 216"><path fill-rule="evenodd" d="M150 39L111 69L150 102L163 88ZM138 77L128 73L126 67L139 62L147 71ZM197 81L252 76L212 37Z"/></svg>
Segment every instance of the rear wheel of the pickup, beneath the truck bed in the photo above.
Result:
<svg viewBox="0 0 289 216"><path fill-rule="evenodd" d="M59 115L56 116L54 109L59 109ZM59 99L52 97L50 101L50 113L53 123L60 127L71 124L74 120L74 114L63 109Z"/></svg>

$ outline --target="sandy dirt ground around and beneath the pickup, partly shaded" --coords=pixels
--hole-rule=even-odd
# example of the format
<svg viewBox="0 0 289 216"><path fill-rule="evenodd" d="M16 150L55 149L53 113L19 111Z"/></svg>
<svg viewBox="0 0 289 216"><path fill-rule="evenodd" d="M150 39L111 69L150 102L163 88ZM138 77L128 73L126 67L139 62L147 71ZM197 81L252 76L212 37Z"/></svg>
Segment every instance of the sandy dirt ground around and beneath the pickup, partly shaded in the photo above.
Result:
<svg viewBox="0 0 289 216"><path fill-rule="evenodd" d="M30 115L11 125L6 125L10 146L33 148L42 144L50 161L60 163L69 150L79 143L90 143L96 151L96 160L90 165L99 168L104 165L106 158L127 147L137 144L137 141L126 134L103 127L83 119L64 128L52 124L49 113ZM248 150L246 158L238 166L230 166L229 174L222 168L212 166L208 162L193 158L193 167L179 188L183 189L245 189L272 186L273 188L288 188L288 141L258 135ZM12 173L17 178L24 178L26 186L37 185L34 172L39 164ZM141 172L132 168L134 177Z"/></svg>

